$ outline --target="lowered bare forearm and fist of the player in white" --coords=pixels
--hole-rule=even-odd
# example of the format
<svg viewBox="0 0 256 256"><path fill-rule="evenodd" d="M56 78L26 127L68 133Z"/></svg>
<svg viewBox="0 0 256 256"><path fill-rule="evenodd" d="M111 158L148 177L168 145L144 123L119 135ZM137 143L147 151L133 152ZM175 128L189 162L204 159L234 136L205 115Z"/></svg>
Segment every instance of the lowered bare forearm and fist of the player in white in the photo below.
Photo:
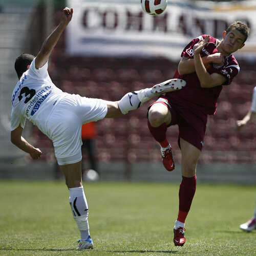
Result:
<svg viewBox="0 0 256 256"><path fill-rule="evenodd" d="M23 128L22 126L18 126L15 130L11 131L11 142L23 150L24 152L30 154L33 159L39 159L41 157L42 152L39 148L33 147L22 137Z"/></svg>

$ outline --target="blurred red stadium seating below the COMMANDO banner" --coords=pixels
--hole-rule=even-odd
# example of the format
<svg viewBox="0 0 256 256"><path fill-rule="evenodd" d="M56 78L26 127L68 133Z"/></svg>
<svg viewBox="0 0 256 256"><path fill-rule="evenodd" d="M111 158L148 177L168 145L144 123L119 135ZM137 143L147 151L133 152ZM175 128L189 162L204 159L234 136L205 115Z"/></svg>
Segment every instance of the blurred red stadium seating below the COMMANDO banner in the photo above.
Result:
<svg viewBox="0 0 256 256"><path fill-rule="evenodd" d="M119 100L127 92L172 78L177 67L177 63L166 59L66 57L61 47L60 43L52 57L53 82L63 91L92 98ZM250 109L256 86L256 71L246 66L246 62L243 66L232 84L223 87L216 115L208 117L200 162L256 162L255 124L247 125L240 132L236 130L236 121ZM123 117L97 122L99 161L161 161L159 145L147 128L146 113L152 102ZM178 134L177 126L167 131L176 162L181 160ZM52 143L46 136L34 130L33 139L53 159Z"/></svg>

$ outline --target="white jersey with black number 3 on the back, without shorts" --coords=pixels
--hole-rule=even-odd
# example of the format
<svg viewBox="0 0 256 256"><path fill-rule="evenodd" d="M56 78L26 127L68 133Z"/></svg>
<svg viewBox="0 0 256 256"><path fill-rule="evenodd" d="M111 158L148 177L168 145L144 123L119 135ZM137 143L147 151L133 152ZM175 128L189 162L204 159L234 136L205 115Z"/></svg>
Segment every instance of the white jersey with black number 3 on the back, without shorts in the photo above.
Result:
<svg viewBox="0 0 256 256"><path fill-rule="evenodd" d="M26 119L33 122L42 132L56 103L67 95L57 88L48 74L48 62L35 68L35 59L23 73L12 94L11 131L18 125L24 128Z"/></svg>

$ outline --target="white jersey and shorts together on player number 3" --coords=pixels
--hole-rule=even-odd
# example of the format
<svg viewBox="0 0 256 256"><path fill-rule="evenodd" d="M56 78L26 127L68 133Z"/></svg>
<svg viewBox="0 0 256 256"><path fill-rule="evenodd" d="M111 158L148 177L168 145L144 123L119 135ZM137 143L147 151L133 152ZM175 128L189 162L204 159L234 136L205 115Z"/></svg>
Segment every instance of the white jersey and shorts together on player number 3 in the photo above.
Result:
<svg viewBox="0 0 256 256"><path fill-rule="evenodd" d="M32 121L52 141L59 165L81 161L83 123L98 121L108 113L102 99L81 97L58 89L52 82L48 62L38 70L35 59L12 94L11 131Z"/></svg>

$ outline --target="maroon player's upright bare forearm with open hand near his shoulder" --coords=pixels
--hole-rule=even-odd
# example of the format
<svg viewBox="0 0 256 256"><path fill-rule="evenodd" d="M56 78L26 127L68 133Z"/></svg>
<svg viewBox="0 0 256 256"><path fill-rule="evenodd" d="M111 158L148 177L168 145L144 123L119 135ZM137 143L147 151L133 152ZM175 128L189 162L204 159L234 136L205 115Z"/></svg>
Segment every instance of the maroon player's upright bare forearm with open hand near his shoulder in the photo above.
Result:
<svg viewBox="0 0 256 256"><path fill-rule="evenodd" d="M201 39L193 47L195 69L196 69L197 76L199 78L202 88L212 88L212 87L220 86L226 81L226 78L220 74L217 74L217 73L209 74L206 68L204 67L204 63L200 56L200 53L202 49L208 44L209 38L210 36L207 35L204 39Z"/></svg>

